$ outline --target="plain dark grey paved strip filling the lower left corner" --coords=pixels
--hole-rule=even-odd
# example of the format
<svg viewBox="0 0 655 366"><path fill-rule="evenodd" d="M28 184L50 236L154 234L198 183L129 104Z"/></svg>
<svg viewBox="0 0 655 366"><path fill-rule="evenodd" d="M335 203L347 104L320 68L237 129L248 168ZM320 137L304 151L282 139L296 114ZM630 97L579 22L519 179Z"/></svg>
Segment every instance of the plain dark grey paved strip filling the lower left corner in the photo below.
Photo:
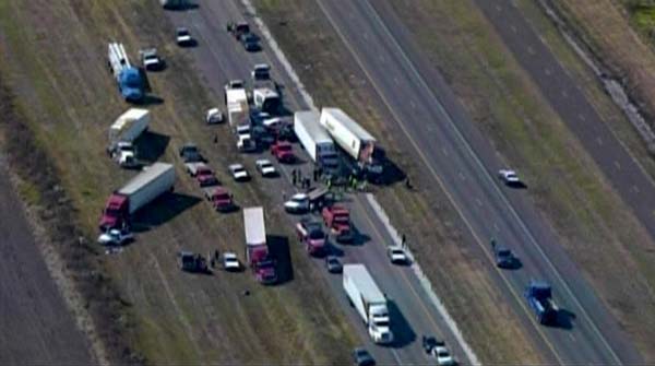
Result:
<svg viewBox="0 0 655 366"><path fill-rule="evenodd" d="M0 160L2 156L0 156ZM0 161L0 364L91 365Z"/></svg>

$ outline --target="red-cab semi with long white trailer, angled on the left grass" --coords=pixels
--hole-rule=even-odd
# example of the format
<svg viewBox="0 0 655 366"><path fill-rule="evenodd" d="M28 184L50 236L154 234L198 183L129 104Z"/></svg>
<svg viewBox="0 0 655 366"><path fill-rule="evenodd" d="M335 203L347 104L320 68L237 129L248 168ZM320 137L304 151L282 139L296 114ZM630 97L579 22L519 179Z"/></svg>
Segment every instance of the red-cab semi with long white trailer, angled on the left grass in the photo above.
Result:
<svg viewBox="0 0 655 366"><path fill-rule="evenodd" d="M171 164L155 163L145 167L122 188L109 196L98 225L100 231L106 232L129 225L131 214L163 193L172 190L174 185L175 169Z"/></svg>

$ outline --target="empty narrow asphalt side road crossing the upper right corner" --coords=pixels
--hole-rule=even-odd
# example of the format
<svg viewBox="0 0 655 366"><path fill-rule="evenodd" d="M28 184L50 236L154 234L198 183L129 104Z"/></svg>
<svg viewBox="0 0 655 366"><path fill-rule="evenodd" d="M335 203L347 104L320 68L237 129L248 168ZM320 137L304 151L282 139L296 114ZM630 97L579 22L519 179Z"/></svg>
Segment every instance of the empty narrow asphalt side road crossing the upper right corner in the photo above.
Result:
<svg viewBox="0 0 655 366"><path fill-rule="evenodd" d="M655 182L651 176L630 155L584 92L569 78L521 10L507 0L476 0L476 3L619 196L655 238Z"/></svg>

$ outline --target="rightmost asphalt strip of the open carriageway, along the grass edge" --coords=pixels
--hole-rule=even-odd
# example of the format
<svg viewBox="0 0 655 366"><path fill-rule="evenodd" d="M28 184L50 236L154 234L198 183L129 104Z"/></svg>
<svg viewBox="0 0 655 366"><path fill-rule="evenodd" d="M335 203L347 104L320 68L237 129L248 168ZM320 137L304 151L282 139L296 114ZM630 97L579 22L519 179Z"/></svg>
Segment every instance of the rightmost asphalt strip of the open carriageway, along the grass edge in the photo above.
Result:
<svg viewBox="0 0 655 366"><path fill-rule="evenodd" d="M400 45L409 55L412 61L420 70L421 75L428 81L430 87L434 91L439 91L440 101L444 104L448 113L453 116L455 120L467 119L466 113L462 106L457 104L456 97L454 97L452 91L448 84L432 68L429 61L421 56L421 50L414 44L413 36L408 34L408 31L402 26L402 22L397 19L397 15L390 9L388 1L376 1L369 2L371 7L376 8L380 17L383 22L389 25L390 32L398 40ZM507 23L502 23L507 25ZM484 162L484 165L491 168L490 174L493 175L493 167L499 168L496 157L496 153L491 149L491 145L486 141L485 137L481 135L480 131L474 128L474 123L458 123L458 128L471 145L475 146L475 150L479 158ZM558 238L555 237L555 233L549 229L547 225L543 223L543 216L536 211L536 208L525 198L524 194L517 194L517 192L503 187L503 192L508 192L507 199L510 201L511 206L516 209L520 213L521 220L529 224L529 231L532 235L537 238L539 246L535 246L533 251L543 251L548 253L548 258L552 261L557 273L561 278L567 279L568 288L575 293L575 297L581 299L584 304L585 317L588 316L593 319L593 322L598 329L603 330L603 333L610 334L608 338L611 340L612 347L619 350L621 358L626 362L638 362L639 354L627 334L619 328L618 322L609 314L609 310L604 306L604 303L594 293L593 288L586 282L582 271L575 263L568 257L564 249L558 245ZM532 243L533 245L535 243ZM550 267L546 263L547 268ZM556 292L561 293L561 288L556 288ZM564 292L565 293L565 292ZM556 298L558 296L556 295ZM638 358L633 358L633 357Z"/></svg>

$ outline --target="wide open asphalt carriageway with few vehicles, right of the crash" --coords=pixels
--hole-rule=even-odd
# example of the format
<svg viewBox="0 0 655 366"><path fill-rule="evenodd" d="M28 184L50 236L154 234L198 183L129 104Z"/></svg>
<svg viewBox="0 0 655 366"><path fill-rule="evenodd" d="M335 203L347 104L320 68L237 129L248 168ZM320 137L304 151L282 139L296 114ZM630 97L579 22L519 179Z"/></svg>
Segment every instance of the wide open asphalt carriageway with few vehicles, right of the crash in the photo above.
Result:
<svg viewBox="0 0 655 366"><path fill-rule="evenodd" d="M490 237L522 258L523 268L498 271L497 281L522 320L540 339L550 362L635 363L641 358L602 306L576 265L521 191L495 178L502 168L489 142L448 84L414 44L384 1L317 0L389 109L417 158L449 194L491 263ZM480 1L484 2L484 1ZM562 309L562 327L536 323L522 293L529 279L548 281ZM568 324L568 326L565 326Z"/></svg>

